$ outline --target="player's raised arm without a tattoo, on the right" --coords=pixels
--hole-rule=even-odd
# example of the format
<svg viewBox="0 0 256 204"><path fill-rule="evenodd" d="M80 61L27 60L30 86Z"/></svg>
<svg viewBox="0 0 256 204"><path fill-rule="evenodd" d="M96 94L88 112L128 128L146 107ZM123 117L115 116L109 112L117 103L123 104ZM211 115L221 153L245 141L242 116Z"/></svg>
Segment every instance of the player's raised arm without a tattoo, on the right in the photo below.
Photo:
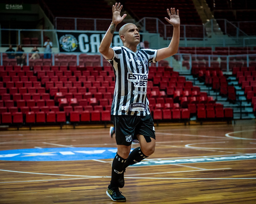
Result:
<svg viewBox="0 0 256 204"><path fill-rule="evenodd" d="M157 51L156 61L160 61L167 57L170 57L178 52L179 42L180 42L180 18L179 18L179 10L177 10L177 14L175 12L175 8L171 8L171 12L167 9L168 15L170 19L165 19L173 25L173 34L171 43L168 47L159 49Z"/></svg>

